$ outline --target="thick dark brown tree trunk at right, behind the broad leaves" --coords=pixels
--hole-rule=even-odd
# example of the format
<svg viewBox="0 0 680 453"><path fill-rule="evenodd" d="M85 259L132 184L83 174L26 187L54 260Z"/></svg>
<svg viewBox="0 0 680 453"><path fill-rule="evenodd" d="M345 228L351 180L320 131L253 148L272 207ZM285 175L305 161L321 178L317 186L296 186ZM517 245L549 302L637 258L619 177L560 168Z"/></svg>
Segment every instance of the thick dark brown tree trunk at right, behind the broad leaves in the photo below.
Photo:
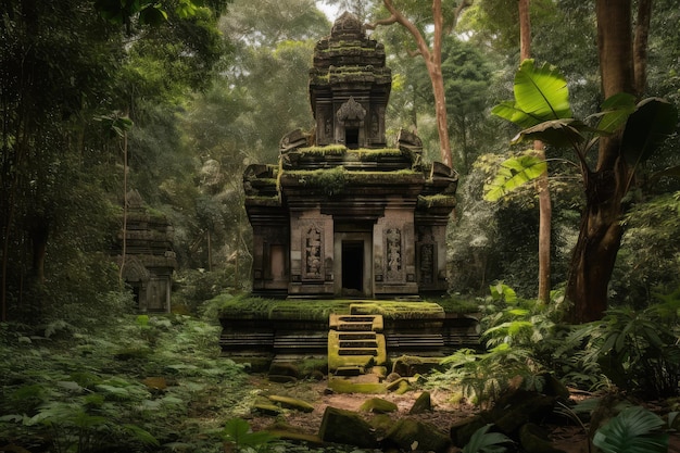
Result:
<svg viewBox="0 0 680 453"><path fill-rule="evenodd" d="M597 0L595 11L604 98L632 93L631 0ZM607 309L607 288L622 234L621 199L630 173L619 151L620 140L621 134L601 139L597 166L584 174L585 211L567 282L576 323L600 319Z"/></svg>

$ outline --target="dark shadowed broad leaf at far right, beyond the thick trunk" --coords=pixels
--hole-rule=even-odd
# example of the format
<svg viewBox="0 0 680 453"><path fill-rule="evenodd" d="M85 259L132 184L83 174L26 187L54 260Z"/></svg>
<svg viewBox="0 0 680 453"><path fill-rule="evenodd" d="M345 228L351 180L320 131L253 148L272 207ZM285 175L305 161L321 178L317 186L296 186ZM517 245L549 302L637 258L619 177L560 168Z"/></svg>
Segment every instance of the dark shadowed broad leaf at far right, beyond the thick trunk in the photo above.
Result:
<svg viewBox="0 0 680 453"><path fill-rule="evenodd" d="M652 156L668 136L676 130L678 110L671 103L658 99L644 99L628 117L621 151L626 161L634 165Z"/></svg>

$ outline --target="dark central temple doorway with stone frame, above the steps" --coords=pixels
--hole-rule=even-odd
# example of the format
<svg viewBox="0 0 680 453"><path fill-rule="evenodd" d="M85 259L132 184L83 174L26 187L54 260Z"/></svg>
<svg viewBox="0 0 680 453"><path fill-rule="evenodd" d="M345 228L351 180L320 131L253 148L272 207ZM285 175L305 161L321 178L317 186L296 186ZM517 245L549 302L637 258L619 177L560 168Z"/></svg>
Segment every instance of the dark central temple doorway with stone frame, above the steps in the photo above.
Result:
<svg viewBox="0 0 680 453"><path fill-rule="evenodd" d="M369 225L336 225L333 239L335 293L344 298L373 297L373 234ZM338 231L340 229L340 231Z"/></svg>

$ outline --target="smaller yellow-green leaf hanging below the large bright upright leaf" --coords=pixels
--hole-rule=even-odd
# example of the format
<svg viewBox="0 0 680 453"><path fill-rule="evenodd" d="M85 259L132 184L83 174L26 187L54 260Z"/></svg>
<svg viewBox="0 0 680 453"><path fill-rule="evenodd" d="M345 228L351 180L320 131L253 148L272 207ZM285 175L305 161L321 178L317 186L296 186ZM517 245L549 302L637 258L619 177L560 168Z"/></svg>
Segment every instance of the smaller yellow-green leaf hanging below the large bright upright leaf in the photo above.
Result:
<svg viewBox="0 0 680 453"><path fill-rule="evenodd" d="M493 180L484 185L484 200L498 201L526 183L538 178L547 171L544 160L526 153L509 158L501 164Z"/></svg>

